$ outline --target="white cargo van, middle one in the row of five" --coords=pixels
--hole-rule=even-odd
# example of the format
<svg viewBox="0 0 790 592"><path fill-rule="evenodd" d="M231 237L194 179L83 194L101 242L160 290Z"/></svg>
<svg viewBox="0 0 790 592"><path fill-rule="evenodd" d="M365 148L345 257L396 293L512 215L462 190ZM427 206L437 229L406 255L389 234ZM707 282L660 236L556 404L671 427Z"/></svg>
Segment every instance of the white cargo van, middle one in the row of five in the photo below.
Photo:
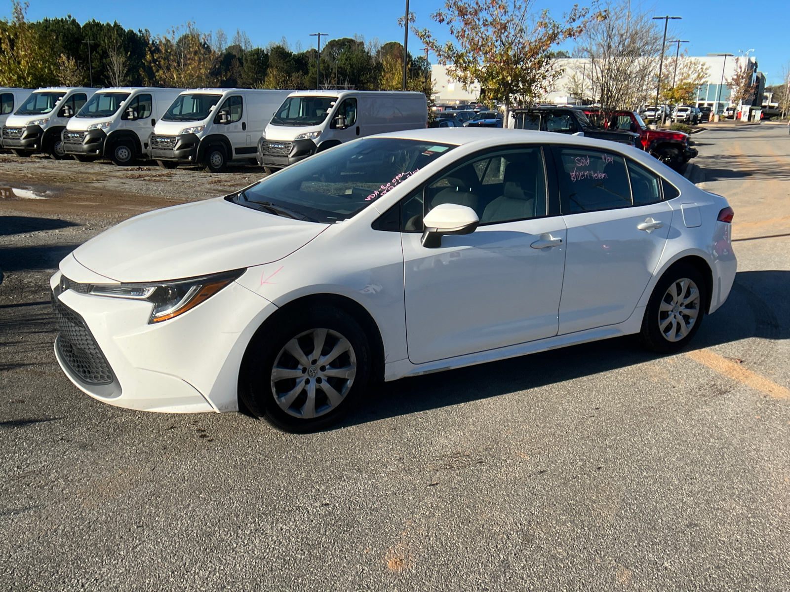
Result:
<svg viewBox="0 0 790 592"><path fill-rule="evenodd" d="M149 136L183 88L102 88L66 129L63 149L78 160L109 157L119 166L148 155Z"/></svg>

